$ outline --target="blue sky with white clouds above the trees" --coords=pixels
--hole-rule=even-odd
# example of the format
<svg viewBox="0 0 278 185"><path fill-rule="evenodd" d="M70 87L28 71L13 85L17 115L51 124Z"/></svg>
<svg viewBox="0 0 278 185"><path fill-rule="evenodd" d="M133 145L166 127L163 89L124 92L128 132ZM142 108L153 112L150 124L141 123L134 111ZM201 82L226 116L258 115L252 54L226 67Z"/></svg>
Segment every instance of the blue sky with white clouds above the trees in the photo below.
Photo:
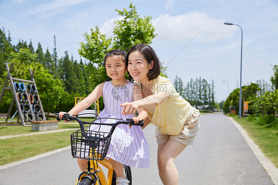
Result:
<svg viewBox="0 0 278 185"><path fill-rule="evenodd" d="M23 39L52 52L53 36L59 57L68 50L79 60L82 34L98 26L113 36L115 9L128 9L127 0L0 0L0 27L12 44ZM278 64L277 0L133 0L140 16L150 15L158 34L151 46L167 74L186 83L190 78L214 80L216 100L239 88L241 31L242 85L269 79ZM201 32L200 32L201 30ZM199 34L197 34L199 32ZM197 36L196 36L197 34ZM190 40L194 39L190 42ZM189 44L188 44L189 42ZM180 51L180 52L179 52ZM179 52L179 53L178 53ZM178 53L178 54L177 54Z"/></svg>

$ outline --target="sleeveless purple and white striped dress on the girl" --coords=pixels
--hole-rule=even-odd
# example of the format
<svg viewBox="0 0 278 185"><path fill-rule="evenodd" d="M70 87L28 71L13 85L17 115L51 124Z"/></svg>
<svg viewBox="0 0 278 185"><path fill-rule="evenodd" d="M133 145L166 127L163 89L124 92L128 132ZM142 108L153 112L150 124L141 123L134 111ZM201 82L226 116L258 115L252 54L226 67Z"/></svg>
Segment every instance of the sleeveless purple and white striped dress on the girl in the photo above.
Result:
<svg viewBox="0 0 278 185"><path fill-rule="evenodd" d="M132 118L135 115L124 116L121 114L124 102L133 101L135 83L129 82L124 87L114 87L105 82L103 86L104 109L98 115L100 118ZM102 123L115 123L118 120L101 119ZM92 125L89 130L98 131L99 126ZM101 132L109 132L111 127L101 126ZM141 127L120 124L116 127L106 157L119 163L137 168L149 168L149 148Z"/></svg>

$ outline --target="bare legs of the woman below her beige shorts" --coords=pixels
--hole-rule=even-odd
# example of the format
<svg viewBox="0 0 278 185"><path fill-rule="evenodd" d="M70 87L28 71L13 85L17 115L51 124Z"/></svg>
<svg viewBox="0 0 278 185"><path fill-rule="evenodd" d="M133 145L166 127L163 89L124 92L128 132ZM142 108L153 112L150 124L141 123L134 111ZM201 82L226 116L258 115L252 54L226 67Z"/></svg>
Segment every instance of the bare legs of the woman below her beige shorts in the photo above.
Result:
<svg viewBox="0 0 278 185"><path fill-rule="evenodd" d="M166 144L158 145L157 165L159 176L164 185L178 185L179 174L174 164L175 158L185 149L186 145L169 139Z"/></svg>

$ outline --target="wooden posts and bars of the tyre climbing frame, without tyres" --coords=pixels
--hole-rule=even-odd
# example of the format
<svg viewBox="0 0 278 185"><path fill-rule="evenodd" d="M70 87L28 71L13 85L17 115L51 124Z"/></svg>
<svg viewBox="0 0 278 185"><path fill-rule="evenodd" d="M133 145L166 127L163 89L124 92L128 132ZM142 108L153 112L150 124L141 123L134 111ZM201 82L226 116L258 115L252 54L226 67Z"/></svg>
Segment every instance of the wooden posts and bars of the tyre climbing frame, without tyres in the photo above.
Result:
<svg viewBox="0 0 278 185"><path fill-rule="evenodd" d="M39 101L38 101L38 104L39 104L40 107L41 107L41 112L42 112L42 115L43 115L43 120L46 120L45 112L44 112L44 109L43 109L43 106L42 106L42 102L41 102L41 99L40 99L40 96L39 96L39 92L37 91L37 86L36 86L35 79L34 79L35 69L33 70L33 72L32 72L31 69L29 69L29 72L30 72L30 75L31 75L31 79L30 79L30 80L22 80L22 79L18 79L18 78L13 78L13 77L11 76L10 73L11 73L11 70L12 70L12 67L13 67L13 63L11 63L10 68L8 67L8 64L7 64L7 63L5 63L5 66L6 66L6 70L7 70L7 72L8 72L8 76L7 76L7 78L6 78L6 81L5 81L5 84L4 84L2 93L1 93L1 95L0 95L0 103L1 103L2 97L4 96L5 90L10 90L10 91L13 93L13 99L12 99L12 101L11 101L11 104L10 104L10 107L9 107L9 110L8 110L8 113L7 113L7 117L6 117L5 122L7 122L8 117L9 117L10 112L11 112L11 109L12 109L12 106L13 106L13 104L14 104L14 102L15 102L15 103L16 103L16 107L17 107L17 111L18 111L18 114L19 114L19 116L18 116L18 118L17 118L17 122L20 122L20 121L21 121L21 124L22 124L23 126L25 126L26 123L29 123L29 122L26 122L26 121L24 120L24 116L23 116L23 113L22 113L23 110L22 110L22 108L21 108L21 106L20 106L20 102L19 102L19 99L18 99L18 97L17 97L17 93L16 93L16 90L15 90L13 81L22 82L23 85L24 85L24 87L25 87L25 93L26 93L26 94L28 94L28 92L27 92L27 88L26 88L25 83L33 84L33 85L35 86L36 95L38 96L38 100L39 100ZM10 82L9 84L8 84L8 81ZM10 85L10 87L7 87L7 86L9 86L9 85ZM31 101L30 101L30 98L29 98L28 95L27 95L27 103L28 103L28 105L29 105L29 107L30 107L30 109L31 109L31 110L30 110L30 113L32 114L32 117L36 120L36 116L35 116L35 114L34 114L34 110L33 110L33 108L32 108ZM24 109L24 107L23 107L23 109ZM20 119L20 121L19 121L19 119ZM34 121L35 121L35 120L34 120Z"/></svg>

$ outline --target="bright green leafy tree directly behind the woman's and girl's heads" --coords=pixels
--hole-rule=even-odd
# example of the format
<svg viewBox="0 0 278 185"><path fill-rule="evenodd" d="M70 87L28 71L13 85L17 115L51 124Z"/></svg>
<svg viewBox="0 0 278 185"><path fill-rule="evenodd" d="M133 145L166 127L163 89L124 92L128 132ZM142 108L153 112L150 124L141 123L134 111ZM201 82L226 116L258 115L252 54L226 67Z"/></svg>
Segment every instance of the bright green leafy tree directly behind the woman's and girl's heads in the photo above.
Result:
<svg viewBox="0 0 278 185"><path fill-rule="evenodd" d="M135 44L151 44L155 37L154 27L151 25L151 17L140 18L135 6L130 4L130 10L116 10L123 20L116 20L113 30L114 37L107 38L99 32L98 27L91 29L91 33L85 33L85 42L81 43L79 54L89 60L86 67L89 75L89 82L92 88L107 79L103 60L105 54L113 48L128 50ZM162 72L166 68L162 68ZM91 88L90 87L90 88ZM87 92L87 90L86 90Z"/></svg>

